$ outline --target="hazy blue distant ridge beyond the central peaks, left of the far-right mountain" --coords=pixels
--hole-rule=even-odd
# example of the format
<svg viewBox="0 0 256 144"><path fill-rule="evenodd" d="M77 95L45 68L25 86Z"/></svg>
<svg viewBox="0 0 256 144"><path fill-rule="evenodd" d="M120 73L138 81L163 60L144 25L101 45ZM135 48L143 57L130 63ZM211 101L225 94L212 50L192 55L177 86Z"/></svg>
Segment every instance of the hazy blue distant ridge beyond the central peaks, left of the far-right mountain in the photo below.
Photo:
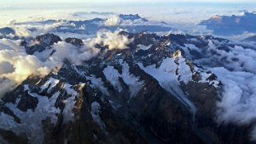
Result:
<svg viewBox="0 0 256 144"><path fill-rule="evenodd" d="M163 23L147 23L148 19L141 18L138 14L120 14L118 16L120 18L122 25L103 25L105 19L102 18L94 18L92 20L86 21L67 21L67 25L60 25L54 29L54 32L58 33L81 33L81 34L95 34L99 29L109 29L116 30L127 29L128 32L131 33L140 33L141 31L148 31L152 33L156 32L168 32L171 31L171 27L168 25L163 25ZM139 21L140 20L140 21ZM122 23L124 21L124 24ZM125 23L125 21L129 21ZM139 21L133 25L130 21Z"/></svg>

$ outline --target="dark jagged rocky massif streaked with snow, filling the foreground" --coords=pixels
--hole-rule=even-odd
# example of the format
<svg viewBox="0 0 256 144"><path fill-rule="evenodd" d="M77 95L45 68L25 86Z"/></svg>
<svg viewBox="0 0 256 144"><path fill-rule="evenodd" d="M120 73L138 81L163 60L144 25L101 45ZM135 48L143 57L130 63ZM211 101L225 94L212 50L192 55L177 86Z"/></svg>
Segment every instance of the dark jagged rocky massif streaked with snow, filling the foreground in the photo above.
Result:
<svg viewBox="0 0 256 144"><path fill-rule="evenodd" d="M57 72L43 78L32 76L4 95L0 142L249 142L249 126L215 123L222 85L213 73L192 62L211 50L210 40L226 40L120 34L134 39L130 49L102 50L81 65L66 61ZM48 36L52 39L41 43L52 45L60 40ZM196 49L187 48L188 44ZM176 50L181 56L173 58Z"/></svg>

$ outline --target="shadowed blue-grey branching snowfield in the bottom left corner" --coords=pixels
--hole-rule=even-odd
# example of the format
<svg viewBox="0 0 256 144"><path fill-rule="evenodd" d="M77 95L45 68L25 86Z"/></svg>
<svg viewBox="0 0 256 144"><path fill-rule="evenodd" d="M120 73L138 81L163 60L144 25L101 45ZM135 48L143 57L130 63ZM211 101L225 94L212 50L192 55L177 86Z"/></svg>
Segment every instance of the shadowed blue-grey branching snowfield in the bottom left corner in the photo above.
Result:
<svg viewBox="0 0 256 144"><path fill-rule="evenodd" d="M20 111L17 105L14 103L6 103L6 107L9 107L14 115L21 119L21 123L16 123L14 118L10 115L1 113L0 116L0 128L4 130L12 130L15 134L25 133L31 143L43 143L44 142L44 130L42 128L41 121L49 117L51 123L57 123L57 116L61 110L54 107L59 92L55 93L48 99L46 96L37 95L36 93L29 94L38 99L37 107L35 110L27 110L26 112Z"/></svg>

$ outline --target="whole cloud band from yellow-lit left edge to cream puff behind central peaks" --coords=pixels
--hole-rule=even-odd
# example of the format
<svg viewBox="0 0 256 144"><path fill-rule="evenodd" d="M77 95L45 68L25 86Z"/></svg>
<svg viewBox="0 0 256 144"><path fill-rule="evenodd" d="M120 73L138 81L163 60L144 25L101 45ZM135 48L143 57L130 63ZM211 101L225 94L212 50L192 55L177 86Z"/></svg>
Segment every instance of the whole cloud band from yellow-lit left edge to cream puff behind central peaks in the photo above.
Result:
<svg viewBox="0 0 256 144"><path fill-rule="evenodd" d="M101 30L95 38L85 40L85 45L80 48L59 41L52 49L35 55L28 55L25 47L19 46L21 41L0 40L0 96L13 90L28 76L45 76L53 68L61 68L64 60L77 65L90 60L100 53L100 49L95 47L96 44L108 46L109 50L128 49L127 45L132 40L120 35L119 32ZM50 55L53 51L54 53Z"/></svg>

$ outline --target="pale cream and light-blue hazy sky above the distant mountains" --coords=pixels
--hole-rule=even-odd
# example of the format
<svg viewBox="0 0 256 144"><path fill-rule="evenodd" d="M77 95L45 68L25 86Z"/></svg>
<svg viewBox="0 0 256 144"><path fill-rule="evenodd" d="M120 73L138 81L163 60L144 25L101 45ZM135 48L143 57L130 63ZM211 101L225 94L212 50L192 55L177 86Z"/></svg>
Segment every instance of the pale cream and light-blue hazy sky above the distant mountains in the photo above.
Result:
<svg viewBox="0 0 256 144"><path fill-rule="evenodd" d="M239 14L242 10L255 11L256 0L0 0L0 27L14 20L69 19L73 13L92 11L140 14L150 20L172 23L199 23L215 14Z"/></svg>

